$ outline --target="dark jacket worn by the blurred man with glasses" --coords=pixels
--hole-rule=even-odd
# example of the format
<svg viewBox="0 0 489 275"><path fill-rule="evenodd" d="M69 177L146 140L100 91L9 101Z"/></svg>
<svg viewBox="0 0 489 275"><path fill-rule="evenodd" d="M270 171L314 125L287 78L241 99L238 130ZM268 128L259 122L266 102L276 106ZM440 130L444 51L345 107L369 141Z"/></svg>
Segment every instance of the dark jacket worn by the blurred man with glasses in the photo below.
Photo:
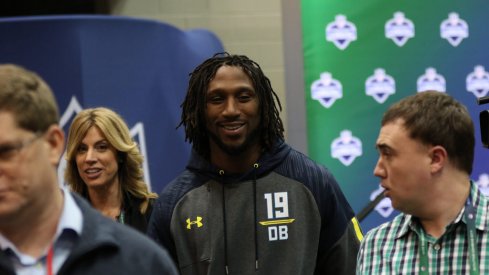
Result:
<svg viewBox="0 0 489 275"><path fill-rule="evenodd" d="M164 249L134 229L102 216L78 195L73 196L83 215L83 229L58 275L177 274ZM2 251L0 274L15 274Z"/></svg>

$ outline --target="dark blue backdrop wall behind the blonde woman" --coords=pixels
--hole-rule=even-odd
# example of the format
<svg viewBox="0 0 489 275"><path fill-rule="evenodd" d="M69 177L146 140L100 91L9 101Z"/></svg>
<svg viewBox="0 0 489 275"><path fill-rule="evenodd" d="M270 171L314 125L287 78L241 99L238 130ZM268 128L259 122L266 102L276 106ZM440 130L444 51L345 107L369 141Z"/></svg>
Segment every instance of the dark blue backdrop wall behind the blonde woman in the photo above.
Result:
<svg viewBox="0 0 489 275"><path fill-rule="evenodd" d="M37 72L53 89L61 126L83 108L109 107L126 120L145 156L155 192L187 162L180 104L195 66L222 52L203 29L116 16L43 16L0 20L0 63ZM62 179L64 158L58 174Z"/></svg>

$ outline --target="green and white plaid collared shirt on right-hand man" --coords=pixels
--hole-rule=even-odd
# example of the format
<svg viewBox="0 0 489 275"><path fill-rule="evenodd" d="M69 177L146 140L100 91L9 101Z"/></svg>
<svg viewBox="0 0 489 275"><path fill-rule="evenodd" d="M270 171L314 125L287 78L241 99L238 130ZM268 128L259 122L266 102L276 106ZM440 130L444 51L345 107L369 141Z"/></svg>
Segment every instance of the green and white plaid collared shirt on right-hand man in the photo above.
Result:
<svg viewBox="0 0 489 275"><path fill-rule="evenodd" d="M480 274L489 274L489 200L471 183ZM469 274L467 224L462 209L438 239L426 234L419 221L400 214L370 230L358 253L357 274L418 274L419 236L428 242L429 274Z"/></svg>

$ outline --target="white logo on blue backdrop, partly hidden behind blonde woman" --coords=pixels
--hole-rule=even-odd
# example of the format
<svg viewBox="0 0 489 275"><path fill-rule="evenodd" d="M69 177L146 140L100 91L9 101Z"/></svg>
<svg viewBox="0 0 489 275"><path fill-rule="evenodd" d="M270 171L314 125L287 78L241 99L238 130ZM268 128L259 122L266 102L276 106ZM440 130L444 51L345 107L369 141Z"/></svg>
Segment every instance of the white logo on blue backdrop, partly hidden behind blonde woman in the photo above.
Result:
<svg viewBox="0 0 489 275"><path fill-rule="evenodd" d="M69 129L69 123L71 123L71 120L83 110L82 106L78 102L75 96L71 97L70 103L68 104L68 107L66 107L66 110L64 111L63 115L60 118L60 127L63 129L66 129L68 131ZM66 126L66 128L65 128ZM138 122L134 125L134 127L130 128L130 133L131 137L134 138L135 140L138 140L138 145L139 145L139 150L141 151L141 154L143 155L144 161L143 161L143 171L144 171L144 181L148 185L149 190L151 190L151 181L149 177L149 166L148 166L148 154L146 150L146 137L144 135L144 125L142 122ZM66 151L63 153L63 156L61 157L59 166L58 166L58 178L60 179L60 182L64 182L64 172L66 169L66 159L65 159Z"/></svg>

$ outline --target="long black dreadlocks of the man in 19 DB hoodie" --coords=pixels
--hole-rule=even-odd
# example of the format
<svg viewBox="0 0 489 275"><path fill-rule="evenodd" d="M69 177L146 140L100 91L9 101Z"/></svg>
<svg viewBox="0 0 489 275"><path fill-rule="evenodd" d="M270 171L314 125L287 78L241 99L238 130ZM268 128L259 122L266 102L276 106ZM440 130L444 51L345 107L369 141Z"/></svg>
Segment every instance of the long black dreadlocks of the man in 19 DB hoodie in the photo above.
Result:
<svg viewBox="0 0 489 275"><path fill-rule="evenodd" d="M279 111L282 111L282 105L260 65L244 55L231 55L227 52L217 53L190 73L187 95L180 105L182 116L177 128L183 125L185 141L192 144L194 150L200 155L210 156L205 116L206 96L209 82L222 66L240 67L253 82L259 100L260 142L265 150L270 150L277 139L284 137L284 126L279 115Z"/></svg>

